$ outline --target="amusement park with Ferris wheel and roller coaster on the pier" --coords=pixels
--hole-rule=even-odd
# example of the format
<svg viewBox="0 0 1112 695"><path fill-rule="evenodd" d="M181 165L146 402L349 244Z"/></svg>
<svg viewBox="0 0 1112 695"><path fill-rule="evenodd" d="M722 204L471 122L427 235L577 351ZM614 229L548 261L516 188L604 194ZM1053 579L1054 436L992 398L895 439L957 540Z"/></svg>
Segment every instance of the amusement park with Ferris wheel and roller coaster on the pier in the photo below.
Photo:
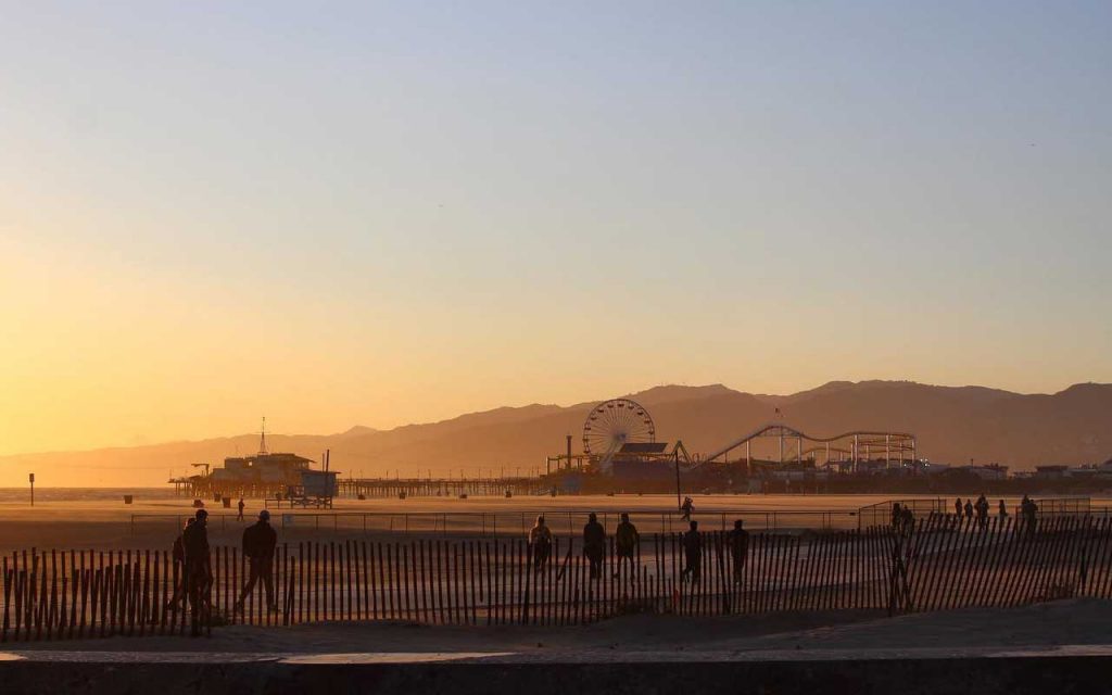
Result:
<svg viewBox="0 0 1112 695"><path fill-rule="evenodd" d="M778 410L777 410L778 414ZM767 440L778 444L776 450L754 456L754 445ZM731 454L744 447L741 456ZM567 451L549 456L547 470L578 468L613 474L616 467L635 463L674 463L688 470L712 465L744 461L749 470L802 465L804 461L827 469L856 473L877 465L903 467L916 460L915 435L897 431L855 430L833 437L815 437L783 423L772 423L731 441L706 456L691 456L683 441L656 441L656 424L648 409L629 398L614 398L592 408L583 424L583 453L572 453L572 435Z"/></svg>

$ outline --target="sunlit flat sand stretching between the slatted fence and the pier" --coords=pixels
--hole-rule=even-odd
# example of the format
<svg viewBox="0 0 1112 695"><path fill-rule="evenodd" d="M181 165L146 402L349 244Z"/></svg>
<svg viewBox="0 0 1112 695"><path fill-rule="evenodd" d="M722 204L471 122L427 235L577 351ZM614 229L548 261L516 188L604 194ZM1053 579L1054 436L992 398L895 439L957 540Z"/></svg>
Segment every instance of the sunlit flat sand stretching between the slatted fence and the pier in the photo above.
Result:
<svg viewBox="0 0 1112 695"><path fill-rule="evenodd" d="M856 512L882 504L887 495L696 495L695 517L704 529L721 529L741 513L749 528L856 528ZM1009 500L1012 504L1014 500ZM58 549L166 549L183 520L193 514L191 499L136 497L120 499L0 503L0 552L26 548ZM1106 500L1093 499L1094 507ZM259 499L246 500L246 522L264 507ZM471 497L469 499L413 497L409 499L337 499L332 509L269 508L279 543L346 537L396 537L451 534L520 534L545 514L554 533L576 535L587 512L597 512L604 524L616 522L620 512L635 515L643 533L677 532L684 524L675 513L675 496L566 496ZM207 503L214 544L239 543L245 522L235 508ZM366 516L363 516L366 515ZM440 515L440 516L437 516ZM446 515L446 516L445 516ZM483 515L486 515L485 518ZM884 522L883 513L880 515Z"/></svg>

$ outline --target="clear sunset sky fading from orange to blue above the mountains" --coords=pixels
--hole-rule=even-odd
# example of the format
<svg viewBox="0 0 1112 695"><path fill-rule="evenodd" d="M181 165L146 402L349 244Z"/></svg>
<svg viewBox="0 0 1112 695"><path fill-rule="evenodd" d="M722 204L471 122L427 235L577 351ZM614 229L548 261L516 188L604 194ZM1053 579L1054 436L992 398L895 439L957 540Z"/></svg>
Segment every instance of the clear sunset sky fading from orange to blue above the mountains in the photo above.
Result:
<svg viewBox="0 0 1112 695"><path fill-rule="evenodd" d="M4 2L0 454L1112 381L1110 2Z"/></svg>

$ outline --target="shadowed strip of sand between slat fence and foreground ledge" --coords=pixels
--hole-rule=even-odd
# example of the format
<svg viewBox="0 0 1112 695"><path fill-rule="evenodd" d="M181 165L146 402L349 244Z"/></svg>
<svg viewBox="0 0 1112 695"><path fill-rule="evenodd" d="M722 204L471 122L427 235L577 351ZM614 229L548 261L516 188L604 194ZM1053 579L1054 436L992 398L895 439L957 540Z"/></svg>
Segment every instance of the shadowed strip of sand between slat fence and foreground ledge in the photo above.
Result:
<svg viewBox="0 0 1112 695"><path fill-rule="evenodd" d="M10 645L13 651L195 653L438 653L583 651L742 653L784 649L973 648L1112 644L1112 602L1071 599L886 617L878 612L737 617L628 616L586 626L332 623L237 625L211 637L112 637Z"/></svg>

